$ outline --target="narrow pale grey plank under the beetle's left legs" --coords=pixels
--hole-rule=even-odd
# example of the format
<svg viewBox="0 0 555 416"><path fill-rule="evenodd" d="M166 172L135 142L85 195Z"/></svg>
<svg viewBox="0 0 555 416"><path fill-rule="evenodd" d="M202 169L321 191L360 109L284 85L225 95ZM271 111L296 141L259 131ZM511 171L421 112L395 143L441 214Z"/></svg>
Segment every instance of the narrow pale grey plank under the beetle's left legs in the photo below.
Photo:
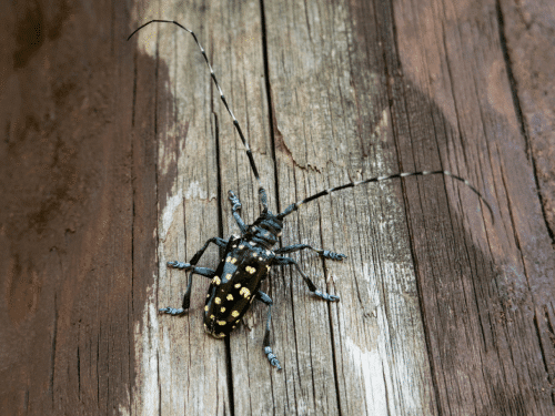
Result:
<svg viewBox="0 0 555 416"><path fill-rule="evenodd" d="M200 39L209 40L213 19L202 4L185 9L174 4L165 10L176 21L206 22L194 28ZM145 22L158 16L149 10L138 16ZM208 29L204 29L208 28ZM171 270L168 261L186 261L206 240L219 235L219 179L216 126L211 102L209 72L192 37L170 24L152 24L141 31L138 44L143 53L158 58L157 84L158 140L158 260L159 277L145 305L140 344L149 344L148 354L138 361L138 381L147 379L138 394L162 414L229 414L225 344L204 334L202 307L208 281L193 281L191 310L183 317L158 314L158 308L180 307L186 287L186 274ZM206 42L204 42L206 43ZM210 43L209 43L210 44ZM208 48L208 45L205 44ZM160 69L168 78L161 78ZM164 91L171 92L164 99ZM141 100L140 97L137 98ZM154 139L154 138L152 138ZM201 265L213 266L216 254L211 247ZM153 364L154 363L154 364Z"/></svg>

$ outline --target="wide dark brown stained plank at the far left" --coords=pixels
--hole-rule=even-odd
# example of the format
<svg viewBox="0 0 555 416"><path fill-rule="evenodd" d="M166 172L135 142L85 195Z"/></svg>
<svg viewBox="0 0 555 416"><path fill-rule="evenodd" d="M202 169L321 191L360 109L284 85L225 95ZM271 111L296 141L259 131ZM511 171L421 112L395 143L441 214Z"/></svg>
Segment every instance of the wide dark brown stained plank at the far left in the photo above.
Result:
<svg viewBox="0 0 555 416"><path fill-rule="evenodd" d="M133 363L128 14L0 8L0 413L112 413Z"/></svg>

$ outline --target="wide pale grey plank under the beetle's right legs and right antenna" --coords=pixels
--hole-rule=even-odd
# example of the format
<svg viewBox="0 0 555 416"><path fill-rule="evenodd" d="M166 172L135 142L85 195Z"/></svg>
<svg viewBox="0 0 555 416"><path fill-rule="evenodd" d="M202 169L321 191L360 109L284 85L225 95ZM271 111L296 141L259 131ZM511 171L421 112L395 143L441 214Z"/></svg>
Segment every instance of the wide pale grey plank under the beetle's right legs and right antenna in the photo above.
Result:
<svg viewBox="0 0 555 416"><path fill-rule="evenodd" d="M387 109L387 77L395 73L386 72L391 62L383 57L394 43L386 13L324 2L291 2L281 13L266 9L279 183L289 183L280 189L284 205L350 180L398 172ZM334 383L335 397L326 397L334 400L333 413L436 410L400 191L397 181L322 199L300 210L297 224L284 233L284 244L301 240L349 255L344 264L326 262L325 270L321 262L305 266L321 275L320 286L341 295L337 305L303 305L305 288L294 274L291 281L296 308L324 312L300 313L297 321L295 308L295 328L307 324L307 335L297 338L319 338L319 321L333 334L325 338L336 374L329 362L312 358L322 378L301 381ZM306 345L316 356L316 346ZM310 362L300 366L310 372ZM310 409L325 414L317 398Z"/></svg>

